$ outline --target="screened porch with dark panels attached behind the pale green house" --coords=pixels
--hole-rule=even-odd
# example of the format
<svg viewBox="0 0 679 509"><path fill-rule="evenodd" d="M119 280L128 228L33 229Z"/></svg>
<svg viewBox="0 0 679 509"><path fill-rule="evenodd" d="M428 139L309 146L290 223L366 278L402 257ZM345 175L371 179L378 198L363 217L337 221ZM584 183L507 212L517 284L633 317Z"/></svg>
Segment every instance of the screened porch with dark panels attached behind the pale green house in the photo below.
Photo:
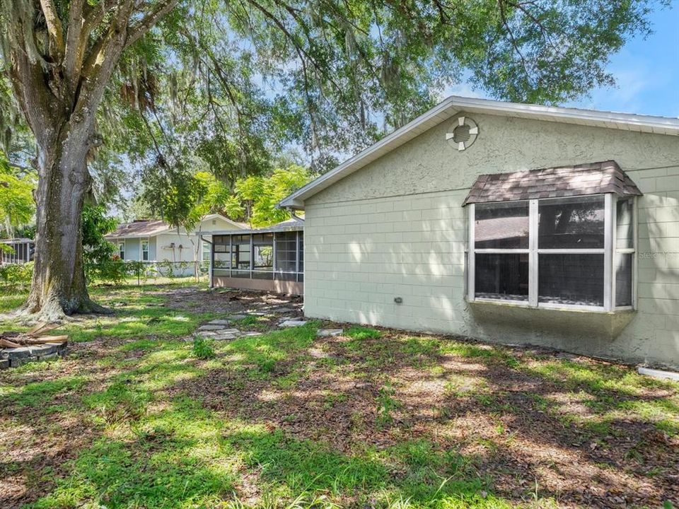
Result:
<svg viewBox="0 0 679 509"><path fill-rule="evenodd" d="M211 286L302 295L304 221L212 232Z"/></svg>

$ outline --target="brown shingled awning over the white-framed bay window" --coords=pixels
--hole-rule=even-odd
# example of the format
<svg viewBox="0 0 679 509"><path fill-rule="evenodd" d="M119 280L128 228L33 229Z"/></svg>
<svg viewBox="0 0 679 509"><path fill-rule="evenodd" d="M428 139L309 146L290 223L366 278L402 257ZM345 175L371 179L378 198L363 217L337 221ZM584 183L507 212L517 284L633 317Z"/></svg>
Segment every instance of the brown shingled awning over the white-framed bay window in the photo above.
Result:
<svg viewBox="0 0 679 509"><path fill-rule="evenodd" d="M632 179L613 160L560 168L480 175L463 206L489 201L557 198L615 193L641 196Z"/></svg>

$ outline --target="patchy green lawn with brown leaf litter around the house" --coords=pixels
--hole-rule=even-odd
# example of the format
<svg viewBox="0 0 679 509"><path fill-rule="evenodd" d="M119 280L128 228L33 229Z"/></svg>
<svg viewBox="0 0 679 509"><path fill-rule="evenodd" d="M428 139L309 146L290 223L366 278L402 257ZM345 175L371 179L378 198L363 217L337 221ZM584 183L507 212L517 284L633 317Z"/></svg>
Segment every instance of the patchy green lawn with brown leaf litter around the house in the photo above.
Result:
<svg viewBox="0 0 679 509"><path fill-rule="evenodd" d="M256 299L92 293L115 315L66 324L69 356L0 372L0 508L679 506L672 382L347 324L317 338L326 324L266 316L236 324L259 336L195 342ZM0 312L22 298L0 296Z"/></svg>

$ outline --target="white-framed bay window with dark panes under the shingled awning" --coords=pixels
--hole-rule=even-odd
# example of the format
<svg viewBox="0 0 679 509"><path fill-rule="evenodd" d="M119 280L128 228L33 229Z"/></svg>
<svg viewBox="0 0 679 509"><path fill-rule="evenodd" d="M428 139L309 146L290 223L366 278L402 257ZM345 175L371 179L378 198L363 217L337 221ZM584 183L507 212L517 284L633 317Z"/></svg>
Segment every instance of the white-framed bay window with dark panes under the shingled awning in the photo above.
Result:
<svg viewBox="0 0 679 509"><path fill-rule="evenodd" d="M634 197L470 204L468 298L544 308L633 305Z"/></svg>

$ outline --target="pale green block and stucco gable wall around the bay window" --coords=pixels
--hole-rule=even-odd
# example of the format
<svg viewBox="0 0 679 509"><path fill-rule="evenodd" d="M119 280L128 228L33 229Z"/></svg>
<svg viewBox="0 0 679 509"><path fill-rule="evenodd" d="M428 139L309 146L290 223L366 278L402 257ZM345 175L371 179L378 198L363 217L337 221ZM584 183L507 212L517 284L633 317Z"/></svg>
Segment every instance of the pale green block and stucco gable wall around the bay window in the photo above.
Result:
<svg viewBox="0 0 679 509"><path fill-rule="evenodd" d="M305 314L679 367L678 137L469 116L467 151L445 141L451 119L306 201ZM644 192L633 317L470 305L462 203L477 175L610 159Z"/></svg>

